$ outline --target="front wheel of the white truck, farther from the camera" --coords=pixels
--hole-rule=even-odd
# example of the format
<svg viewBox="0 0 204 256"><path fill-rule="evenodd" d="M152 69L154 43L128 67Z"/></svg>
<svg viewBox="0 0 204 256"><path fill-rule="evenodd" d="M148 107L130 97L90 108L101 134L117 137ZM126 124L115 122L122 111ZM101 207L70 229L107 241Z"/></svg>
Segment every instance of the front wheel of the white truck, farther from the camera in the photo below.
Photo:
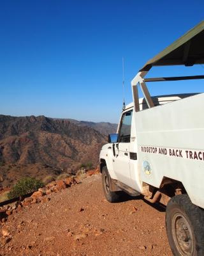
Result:
<svg viewBox="0 0 204 256"><path fill-rule="evenodd" d="M106 200L110 203L119 202L120 191L113 192L110 190L110 175L106 166L103 166L102 169L102 185Z"/></svg>

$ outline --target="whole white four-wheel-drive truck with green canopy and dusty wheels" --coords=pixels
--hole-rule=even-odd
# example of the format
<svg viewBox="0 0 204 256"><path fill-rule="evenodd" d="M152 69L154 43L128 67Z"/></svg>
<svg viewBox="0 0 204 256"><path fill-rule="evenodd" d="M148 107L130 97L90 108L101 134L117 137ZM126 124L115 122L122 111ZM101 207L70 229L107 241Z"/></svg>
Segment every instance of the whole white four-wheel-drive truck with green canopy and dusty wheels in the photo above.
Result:
<svg viewBox="0 0 204 256"><path fill-rule="evenodd" d="M100 153L109 202L122 191L166 205L175 256L204 255L204 93L151 97L146 83L204 76L145 78L154 66L204 63L204 21L149 60L131 82L133 103ZM138 99L138 86L144 98Z"/></svg>

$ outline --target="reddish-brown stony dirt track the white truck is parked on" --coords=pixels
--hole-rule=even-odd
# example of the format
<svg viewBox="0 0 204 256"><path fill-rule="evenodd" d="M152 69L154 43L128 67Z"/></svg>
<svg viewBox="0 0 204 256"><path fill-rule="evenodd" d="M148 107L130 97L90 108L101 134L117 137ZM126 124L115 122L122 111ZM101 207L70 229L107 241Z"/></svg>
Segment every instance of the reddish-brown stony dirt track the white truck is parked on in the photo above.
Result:
<svg viewBox="0 0 204 256"><path fill-rule="evenodd" d="M1 244L0 255L172 255L163 209L140 197L106 202L101 175L49 197L9 216L1 233L11 241Z"/></svg>

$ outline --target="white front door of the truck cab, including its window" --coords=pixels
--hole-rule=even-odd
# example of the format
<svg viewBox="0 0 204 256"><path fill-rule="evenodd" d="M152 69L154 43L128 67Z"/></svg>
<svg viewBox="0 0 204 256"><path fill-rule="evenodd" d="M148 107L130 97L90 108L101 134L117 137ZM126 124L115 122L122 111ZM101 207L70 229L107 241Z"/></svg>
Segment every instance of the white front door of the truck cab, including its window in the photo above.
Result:
<svg viewBox="0 0 204 256"><path fill-rule="evenodd" d="M126 111L122 115L119 129L119 142L115 144L115 157L113 159L113 168L117 179L128 186L131 186L129 146L132 116L133 110Z"/></svg>

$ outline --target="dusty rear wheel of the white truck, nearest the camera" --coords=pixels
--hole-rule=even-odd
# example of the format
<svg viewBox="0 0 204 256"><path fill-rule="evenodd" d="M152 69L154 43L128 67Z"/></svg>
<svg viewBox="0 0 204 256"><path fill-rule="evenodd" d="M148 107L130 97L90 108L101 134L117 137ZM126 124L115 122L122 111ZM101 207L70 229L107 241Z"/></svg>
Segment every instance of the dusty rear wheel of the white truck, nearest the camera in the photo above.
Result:
<svg viewBox="0 0 204 256"><path fill-rule="evenodd" d="M188 195L173 196L168 202L166 232L173 255L204 255L204 211Z"/></svg>

